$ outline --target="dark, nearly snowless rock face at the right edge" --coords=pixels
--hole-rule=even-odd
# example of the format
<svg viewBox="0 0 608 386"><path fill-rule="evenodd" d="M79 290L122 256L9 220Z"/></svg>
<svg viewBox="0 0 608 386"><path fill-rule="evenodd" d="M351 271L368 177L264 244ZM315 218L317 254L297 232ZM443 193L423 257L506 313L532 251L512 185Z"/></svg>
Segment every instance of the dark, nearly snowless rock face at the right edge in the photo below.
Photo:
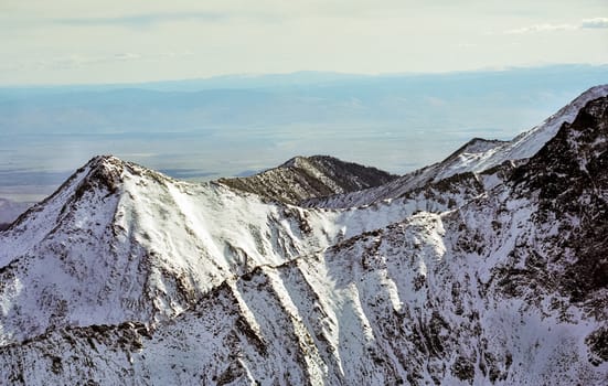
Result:
<svg viewBox="0 0 608 386"><path fill-rule="evenodd" d="M514 181L521 195L537 195L538 227L557 230L552 262L566 267L557 280L575 301L608 285L608 98L590 101L576 120L525 165ZM573 219L576 219L573 222ZM574 260L567 260L568 255Z"/></svg>

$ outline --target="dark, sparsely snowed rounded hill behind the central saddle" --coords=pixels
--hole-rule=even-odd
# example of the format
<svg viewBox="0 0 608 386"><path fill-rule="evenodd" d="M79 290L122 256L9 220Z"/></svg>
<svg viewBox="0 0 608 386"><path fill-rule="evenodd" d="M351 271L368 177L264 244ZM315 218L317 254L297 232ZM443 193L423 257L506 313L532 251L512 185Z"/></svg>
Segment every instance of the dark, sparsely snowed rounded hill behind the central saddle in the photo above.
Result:
<svg viewBox="0 0 608 386"><path fill-rule="evenodd" d="M396 178L375 168L313 156L292 158L278 168L248 178L221 179L218 182L296 205L308 199L380 186Z"/></svg>

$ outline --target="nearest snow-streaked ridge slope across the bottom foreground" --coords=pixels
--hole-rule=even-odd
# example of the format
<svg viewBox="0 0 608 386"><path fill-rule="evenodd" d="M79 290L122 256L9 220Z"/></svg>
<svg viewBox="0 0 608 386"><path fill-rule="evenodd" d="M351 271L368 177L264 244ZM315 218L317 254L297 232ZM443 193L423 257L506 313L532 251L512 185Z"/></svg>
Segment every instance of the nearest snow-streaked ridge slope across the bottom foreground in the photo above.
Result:
<svg viewBox="0 0 608 386"><path fill-rule="evenodd" d="M502 226L522 230L492 238L490 249L525 235L533 207L513 210ZM467 246L469 233L487 229L473 223L488 221L479 215L473 207L420 213L322 254L260 267L154 331L54 331L4 349L3 368L28 384L601 385L608 367L589 363L583 343L601 324L558 293L540 304L526 301L534 292L503 296L491 271L513 262ZM470 230L447 237L465 224L460 216ZM10 366L21 361L28 372Z"/></svg>

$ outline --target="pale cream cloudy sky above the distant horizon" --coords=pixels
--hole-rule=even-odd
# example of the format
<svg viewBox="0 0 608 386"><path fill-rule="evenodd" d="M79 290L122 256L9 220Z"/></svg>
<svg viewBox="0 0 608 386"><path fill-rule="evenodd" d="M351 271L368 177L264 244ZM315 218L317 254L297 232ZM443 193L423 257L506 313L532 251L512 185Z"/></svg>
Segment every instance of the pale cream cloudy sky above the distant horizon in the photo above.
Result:
<svg viewBox="0 0 608 386"><path fill-rule="evenodd" d="M608 63L606 0L0 0L0 85Z"/></svg>

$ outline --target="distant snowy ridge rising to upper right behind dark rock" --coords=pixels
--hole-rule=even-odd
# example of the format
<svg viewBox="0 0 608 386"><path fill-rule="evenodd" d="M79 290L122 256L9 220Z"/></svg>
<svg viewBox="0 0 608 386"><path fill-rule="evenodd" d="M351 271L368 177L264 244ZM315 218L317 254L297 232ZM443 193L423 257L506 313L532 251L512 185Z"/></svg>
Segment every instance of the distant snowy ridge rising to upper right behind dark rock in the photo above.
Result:
<svg viewBox="0 0 608 386"><path fill-rule="evenodd" d="M311 199L302 204L309 207L351 207L367 205L386 199L395 199L408 191L424 187L459 173L481 173L503 164L521 164L534 156L564 122L572 122L589 100L608 95L608 85L596 86L547 118L541 125L521 133L511 141L472 139L442 162L405 174L378 187L338 194L330 197Z"/></svg>

